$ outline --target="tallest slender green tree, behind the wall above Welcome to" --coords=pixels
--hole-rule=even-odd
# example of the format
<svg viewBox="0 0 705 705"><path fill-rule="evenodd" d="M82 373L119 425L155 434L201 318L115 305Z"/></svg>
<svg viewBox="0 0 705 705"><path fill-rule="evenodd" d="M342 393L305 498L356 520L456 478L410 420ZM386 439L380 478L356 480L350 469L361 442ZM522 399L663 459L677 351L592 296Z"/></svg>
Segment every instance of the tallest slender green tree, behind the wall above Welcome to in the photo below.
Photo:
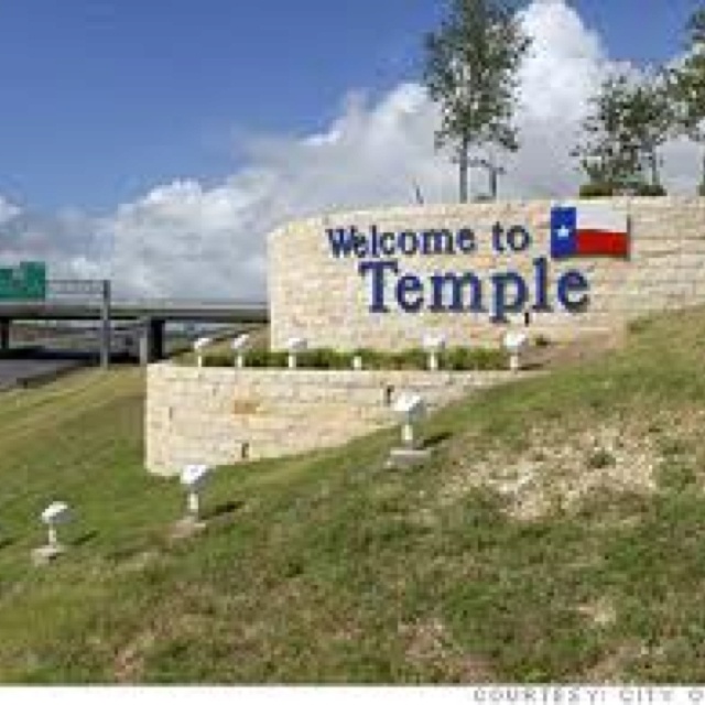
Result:
<svg viewBox="0 0 705 705"><path fill-rule="evenodd" d="M436 147L457 160L462 203L468 199L471 149L519 148L513 115L529 46L509 0L451 0L440 30L426 35L424 83L442 115Z"/></svg>

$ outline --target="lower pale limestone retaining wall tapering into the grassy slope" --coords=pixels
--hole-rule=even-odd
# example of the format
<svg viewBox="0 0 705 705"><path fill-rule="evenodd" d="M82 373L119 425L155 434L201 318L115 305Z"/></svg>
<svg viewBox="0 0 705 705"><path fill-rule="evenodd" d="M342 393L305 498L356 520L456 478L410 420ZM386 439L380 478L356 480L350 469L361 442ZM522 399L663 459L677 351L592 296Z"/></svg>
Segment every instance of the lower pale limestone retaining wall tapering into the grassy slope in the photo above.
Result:
<svg viewBox="0 0 705 705"><path fill-rule="evenodd" d="M431 410L510 372L323 371L152 365L147 373L147 466L228 465L339 445L398 423L404 392Z"/></svg>

